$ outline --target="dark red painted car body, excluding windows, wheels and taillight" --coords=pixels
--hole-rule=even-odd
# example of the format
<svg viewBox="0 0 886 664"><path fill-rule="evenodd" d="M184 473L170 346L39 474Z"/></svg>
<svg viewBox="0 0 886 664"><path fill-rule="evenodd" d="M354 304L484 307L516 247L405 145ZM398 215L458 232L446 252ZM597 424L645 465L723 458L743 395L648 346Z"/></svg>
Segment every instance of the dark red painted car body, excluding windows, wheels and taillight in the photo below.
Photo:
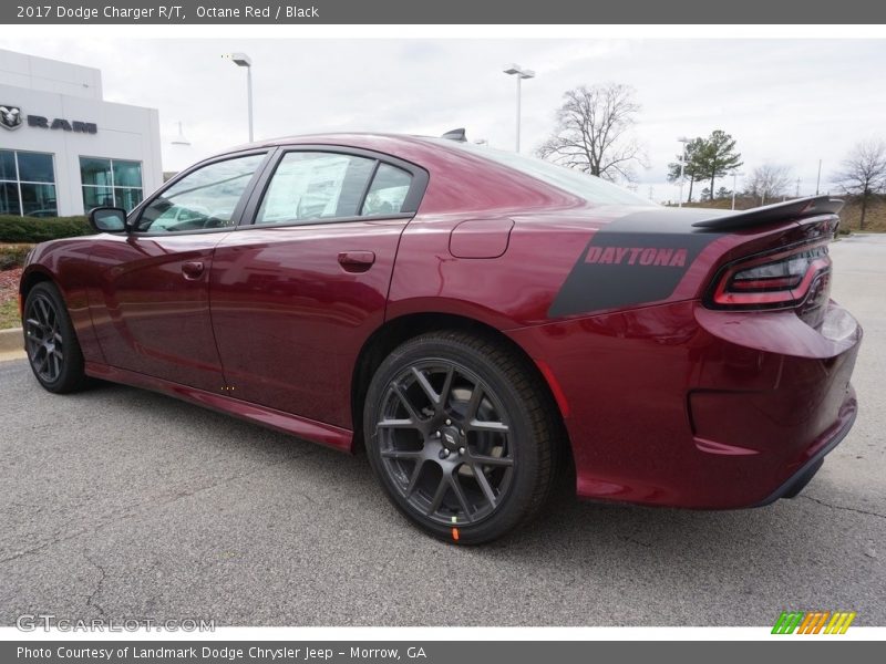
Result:
<svg viewBox="0 0 886 664"><path fill-rule="evenodd" d="M415 209L254 225L280 155L308 148L408 168ZM705 300L736 259L830 239L833 214L693 229L710 211L594 206L402 136L311 136L235 154L251 153L265 163L233 228L75 238L31 256L23 294L41 279L61 288L87 374L348 450L383 353L411 331L482 328L543 377L579 495L694 508L796 490L852 425L861 328L826 292L815 325L795 308L721 311Z"/></svg>

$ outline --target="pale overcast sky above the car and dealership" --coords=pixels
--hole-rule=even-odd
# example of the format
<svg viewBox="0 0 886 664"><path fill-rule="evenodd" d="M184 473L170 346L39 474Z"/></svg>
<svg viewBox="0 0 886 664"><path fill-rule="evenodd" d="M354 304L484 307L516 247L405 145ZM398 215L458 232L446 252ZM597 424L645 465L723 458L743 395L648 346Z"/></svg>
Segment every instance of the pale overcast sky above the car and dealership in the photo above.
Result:
<svg viewBox="0 0 886 664"><path fill-rule="evenodd" d="M836 193L831 180L852 147L886 139L886 40L3 37L0 48L97 68L105 100L158 108L164 170L247 141L245 70L222 58L231 51L254 63L256 138L465 127L471 141L513 149L516 83L502 70L516 62L536 72L523 82L528 153L554 129L564 92L628 84L650 166L638 169L636 190L658 201L678 196L666 179L678 136L723 129L738 141L742 173L787 166L801 195L815 191L820 159L821 189ZM171 143L178 122L188 147Z"/></svg>

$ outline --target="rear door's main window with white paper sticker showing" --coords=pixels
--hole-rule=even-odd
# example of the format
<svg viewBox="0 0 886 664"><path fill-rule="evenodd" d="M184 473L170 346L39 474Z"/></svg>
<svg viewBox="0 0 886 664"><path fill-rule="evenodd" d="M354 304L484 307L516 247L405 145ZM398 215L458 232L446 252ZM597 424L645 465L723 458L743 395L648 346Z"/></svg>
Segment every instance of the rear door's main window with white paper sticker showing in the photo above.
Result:
<svg viewBox="0 0 886 664"><path fill-rule="evenodd" d="M290 152L271 177L256 224L356 217L374 159L337 153Z"/></svg>

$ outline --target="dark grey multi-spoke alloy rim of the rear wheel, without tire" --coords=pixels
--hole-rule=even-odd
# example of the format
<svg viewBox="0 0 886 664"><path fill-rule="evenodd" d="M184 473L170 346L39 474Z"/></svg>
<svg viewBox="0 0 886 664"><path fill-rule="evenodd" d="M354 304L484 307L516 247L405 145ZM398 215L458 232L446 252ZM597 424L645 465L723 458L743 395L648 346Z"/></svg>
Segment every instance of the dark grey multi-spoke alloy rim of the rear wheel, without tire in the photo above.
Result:
<svg viewBox="0 0 886 664"><path fill-rule="evenodd" d="M412 363L389 383L375 423L382 465L427 519L480 521L511 487L517 458L509 422L501 398L463 364Z"/></svg>

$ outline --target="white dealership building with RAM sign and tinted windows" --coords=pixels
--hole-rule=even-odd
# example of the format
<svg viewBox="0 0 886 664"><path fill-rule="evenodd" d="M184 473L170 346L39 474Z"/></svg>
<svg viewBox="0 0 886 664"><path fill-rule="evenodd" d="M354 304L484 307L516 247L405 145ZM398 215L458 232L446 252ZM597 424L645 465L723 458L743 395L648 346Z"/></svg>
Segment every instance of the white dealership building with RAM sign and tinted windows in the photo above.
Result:
<svg viewBox="0 0 886 664"><path fill-rule="evenodd" d="M96 69L0 50L0 215L131 210L162 183L155 108L105 102Z"/></svg>

